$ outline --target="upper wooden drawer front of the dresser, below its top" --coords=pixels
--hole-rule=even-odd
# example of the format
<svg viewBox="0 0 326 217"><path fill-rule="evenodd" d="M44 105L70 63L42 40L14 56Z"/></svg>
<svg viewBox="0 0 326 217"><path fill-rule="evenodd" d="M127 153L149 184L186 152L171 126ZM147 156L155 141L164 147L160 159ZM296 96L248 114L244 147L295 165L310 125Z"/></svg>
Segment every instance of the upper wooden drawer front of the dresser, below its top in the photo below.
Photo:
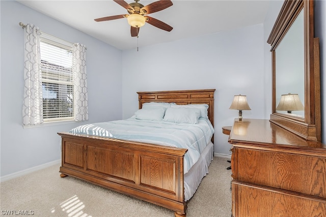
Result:
<svg viewBox="0 0 326 217"><path fill-rule="evenodd" d="M307 155L234 148L235 180L326 198L326 159Z"/></svg>

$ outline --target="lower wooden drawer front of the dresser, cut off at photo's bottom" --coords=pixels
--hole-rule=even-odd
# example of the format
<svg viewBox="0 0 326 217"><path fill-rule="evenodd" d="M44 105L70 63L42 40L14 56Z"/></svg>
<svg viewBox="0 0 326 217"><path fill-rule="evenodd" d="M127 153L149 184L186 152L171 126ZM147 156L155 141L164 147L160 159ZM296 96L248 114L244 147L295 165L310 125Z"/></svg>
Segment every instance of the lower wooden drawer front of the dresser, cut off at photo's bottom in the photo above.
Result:
<svg viewBox="0 0 326 217"><path fill-rule="evenodd" d="M232 181L234 217L325 216L326 200Z"/></svg>

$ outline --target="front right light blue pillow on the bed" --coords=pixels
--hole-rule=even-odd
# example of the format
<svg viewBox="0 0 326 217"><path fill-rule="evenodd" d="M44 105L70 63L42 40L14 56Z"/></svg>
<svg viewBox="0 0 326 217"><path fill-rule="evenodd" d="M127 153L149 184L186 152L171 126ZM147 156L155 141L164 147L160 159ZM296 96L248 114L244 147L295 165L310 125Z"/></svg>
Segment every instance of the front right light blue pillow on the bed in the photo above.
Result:
<svg viewBox="0 0 326 217"><path fill-rule="evenodd" d="M174 123L198 124L199 117L200 110L198 108L169 107L163 120Z"/></svg>

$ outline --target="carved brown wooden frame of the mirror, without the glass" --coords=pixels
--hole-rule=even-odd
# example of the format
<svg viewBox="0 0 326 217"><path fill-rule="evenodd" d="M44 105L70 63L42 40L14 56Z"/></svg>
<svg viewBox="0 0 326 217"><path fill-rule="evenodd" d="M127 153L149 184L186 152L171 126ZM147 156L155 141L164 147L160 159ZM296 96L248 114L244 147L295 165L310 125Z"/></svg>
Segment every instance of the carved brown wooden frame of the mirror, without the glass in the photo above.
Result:
<svg viewBox="0 0 326 217"><path fill-rule="evenodd" d="M314 38L313 0L285 0L267 43L271 45L272 114L275 123L309 141L321 142L319 38ZM292 23L304 12L305 117L276 111L276 48Z"/></svg>

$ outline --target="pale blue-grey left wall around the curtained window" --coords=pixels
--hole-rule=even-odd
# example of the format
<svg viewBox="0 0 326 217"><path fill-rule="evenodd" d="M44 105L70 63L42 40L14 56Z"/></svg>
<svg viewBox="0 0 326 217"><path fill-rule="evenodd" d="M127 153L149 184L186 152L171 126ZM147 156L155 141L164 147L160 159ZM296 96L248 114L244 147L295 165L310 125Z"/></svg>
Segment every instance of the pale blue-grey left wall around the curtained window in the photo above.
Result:
<svg viewBox="0 0 326 217"><path fill-rule="evenodd" d="M80 123L23 129L23 30L19 22L87 46L89 122L122 118L122 52L15 1L1 1L1 176L61 158L59 131ZM87 123L87 122L83 122Z"/></svg>

